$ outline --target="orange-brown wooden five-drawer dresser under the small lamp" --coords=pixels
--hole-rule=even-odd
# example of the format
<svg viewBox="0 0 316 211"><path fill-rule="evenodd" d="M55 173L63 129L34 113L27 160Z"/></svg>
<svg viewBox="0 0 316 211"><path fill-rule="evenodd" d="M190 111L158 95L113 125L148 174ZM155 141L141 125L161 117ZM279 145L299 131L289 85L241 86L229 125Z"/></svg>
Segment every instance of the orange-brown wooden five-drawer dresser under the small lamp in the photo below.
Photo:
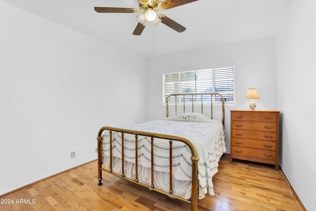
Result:
<svg viewBox="0 0 316 211"><path fill-rule="evenodd" d="M276 165L278 170L279 111L232 110L231 156Z"/></svg>

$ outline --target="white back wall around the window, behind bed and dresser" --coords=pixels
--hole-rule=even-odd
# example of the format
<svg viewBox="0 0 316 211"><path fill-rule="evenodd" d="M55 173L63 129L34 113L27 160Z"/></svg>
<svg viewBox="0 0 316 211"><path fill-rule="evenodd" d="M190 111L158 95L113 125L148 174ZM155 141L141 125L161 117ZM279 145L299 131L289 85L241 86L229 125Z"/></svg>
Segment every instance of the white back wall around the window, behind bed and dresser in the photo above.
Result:
<svg viewBox="0 0 316 211"><path fill-rule="evenodd" d="M226 106L225 131L230 144L230 110L249 109L245 94L257 88L257 109L276 109L276 55L274 37L157 56L148 61L147 120L165 116L162 105L162 74L235 64L235 106ZM221 112L221 106L217 106ZM215 111L214 111L215 112ZM229 147L227 147L229 153Z"/></svg>

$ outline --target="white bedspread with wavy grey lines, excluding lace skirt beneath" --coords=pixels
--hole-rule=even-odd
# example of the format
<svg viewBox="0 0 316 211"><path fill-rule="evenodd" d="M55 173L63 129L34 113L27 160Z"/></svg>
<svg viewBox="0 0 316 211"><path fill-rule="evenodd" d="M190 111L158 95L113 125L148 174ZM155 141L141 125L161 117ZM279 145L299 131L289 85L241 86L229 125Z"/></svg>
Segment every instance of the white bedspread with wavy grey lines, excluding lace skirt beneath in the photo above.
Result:
<svg viewBox="0 0 316 211"><path fill-rule="evenodd" d="M212 176L218 171L218 161L226 152L225 131L221 122L207 120L203 122L174 121L164 118L141 123L127 129L182 136L190 140L197 148L199 198L204 194L214 195ZM121 134L113 132L113 156L121 158ZM135 136L124 134L124 159L135 164ZM110 155L109 133L103 135L104 157ZM182 142L173 142L173 177L180 181L191 181L192 162L191 151ZM106 162L108 163L108 162ZM151 168L151 140L150 137L138 137L138 164L144 168ZM169 141L154 139L154 170L169 172Z"/></svg>

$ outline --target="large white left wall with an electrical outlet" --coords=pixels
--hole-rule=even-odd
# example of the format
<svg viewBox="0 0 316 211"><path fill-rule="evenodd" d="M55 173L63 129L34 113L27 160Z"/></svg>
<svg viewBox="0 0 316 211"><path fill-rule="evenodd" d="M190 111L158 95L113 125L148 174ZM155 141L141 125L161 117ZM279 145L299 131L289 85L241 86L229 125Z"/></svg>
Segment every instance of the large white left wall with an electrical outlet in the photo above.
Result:
<svg viewBox="0 0 316 211"><path fill-rule="evenodd" d="M1 0L0 26L0 195L96 159L100 127L145 120L142 58Z"/></svg>

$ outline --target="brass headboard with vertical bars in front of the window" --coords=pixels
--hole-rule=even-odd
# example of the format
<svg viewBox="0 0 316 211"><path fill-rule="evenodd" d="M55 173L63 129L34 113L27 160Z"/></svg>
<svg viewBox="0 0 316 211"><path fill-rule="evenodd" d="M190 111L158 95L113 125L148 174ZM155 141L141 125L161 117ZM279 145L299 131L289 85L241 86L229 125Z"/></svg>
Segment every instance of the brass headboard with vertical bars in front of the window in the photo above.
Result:
<svg viewBox="0 0 316 211"><path fill-rule="evenodd" d="M171 93L167 96L166 99L166 110L167 110L167 114L166 117L169 116L169 100L171 99L172 96L174 96L175 98L175 113L177 115L177 96L181 97L181 96L191 96L189 98L187 98L187 100L191 100L192 102L190 102L190 104L192 103L192 113L194 112L194 103L200 103L201 104L201 113L203 114L203 97L204 96L210 96L211 100L211 119L213 119L213 95L218 95L221 97L222 99L222 123L224 126L225 123L225 98L222 94L218 93L218 92L197 92L197 93ZM199 98L200 97L200 98ZM186 104L186 98L183 97L183 112L185 113L185 104ZM188 102L189 103L189 102Z"/></svg>

